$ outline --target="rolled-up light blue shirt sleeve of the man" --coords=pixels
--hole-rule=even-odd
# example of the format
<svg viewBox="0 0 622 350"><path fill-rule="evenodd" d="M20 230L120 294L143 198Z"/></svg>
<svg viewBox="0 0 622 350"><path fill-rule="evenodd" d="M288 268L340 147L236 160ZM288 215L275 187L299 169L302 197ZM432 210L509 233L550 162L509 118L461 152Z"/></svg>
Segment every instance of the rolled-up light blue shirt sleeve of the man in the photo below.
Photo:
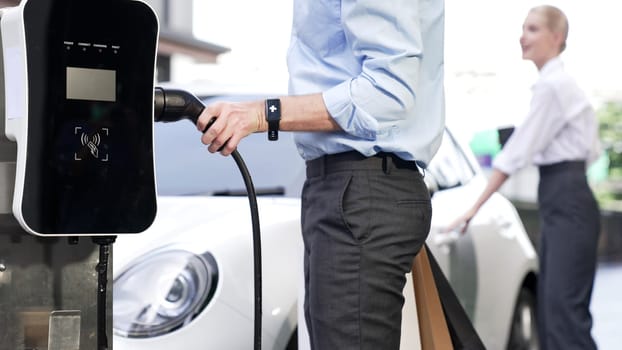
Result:
<svg viewBox="0 0 622 350"><path fill-rule="evenodd" d="M324 103L348 134L375 140L415 112L422 55L418 7L411 1L344 0L346 42L361 71L323 92Z"/></svg>

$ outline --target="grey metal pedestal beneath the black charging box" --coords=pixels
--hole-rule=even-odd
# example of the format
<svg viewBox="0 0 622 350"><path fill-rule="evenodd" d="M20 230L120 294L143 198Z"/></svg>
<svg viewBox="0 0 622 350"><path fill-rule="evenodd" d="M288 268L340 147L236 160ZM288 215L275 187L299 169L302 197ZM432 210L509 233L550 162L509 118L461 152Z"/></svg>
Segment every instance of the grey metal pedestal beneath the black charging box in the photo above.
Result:
<svg viewBox="0 0 622 350"><path fill-rule="evenodd" d="M0 54L0 83L1 59ZM97 246L86 239L73 244L37 237L19 225L12 213L16 159L16 144L4 136L0 112L0 349L96 349ZM107 299L112 315L111 289ZM112 329L111 317L106 328ZM112 332L107 336L111 339Z"/></svg>

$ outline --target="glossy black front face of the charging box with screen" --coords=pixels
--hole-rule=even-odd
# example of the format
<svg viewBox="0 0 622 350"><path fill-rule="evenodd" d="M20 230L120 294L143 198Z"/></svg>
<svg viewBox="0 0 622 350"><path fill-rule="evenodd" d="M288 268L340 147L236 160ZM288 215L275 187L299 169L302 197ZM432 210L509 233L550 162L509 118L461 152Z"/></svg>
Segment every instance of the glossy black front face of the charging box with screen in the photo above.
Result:
<svg viewBox="0 0 622 350"><path fill-rule="evenodd" d="M42 234L141 232L156 210L158 25L138 1L30 0L22 213Z"/></svg>

